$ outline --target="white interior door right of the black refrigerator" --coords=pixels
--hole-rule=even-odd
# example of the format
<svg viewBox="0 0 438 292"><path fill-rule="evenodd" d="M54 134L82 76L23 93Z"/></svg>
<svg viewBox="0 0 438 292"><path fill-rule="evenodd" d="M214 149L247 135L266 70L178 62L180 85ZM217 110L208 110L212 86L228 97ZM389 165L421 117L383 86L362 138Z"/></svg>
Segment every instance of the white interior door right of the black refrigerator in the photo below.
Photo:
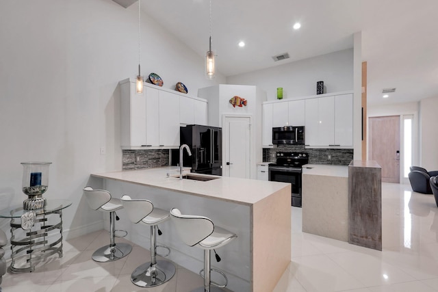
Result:
<svg viewBox="0 0 438 292"><path fill-rule="evenodd" d="M224 176L250 178L250 117L224 117Z"/></svg>

